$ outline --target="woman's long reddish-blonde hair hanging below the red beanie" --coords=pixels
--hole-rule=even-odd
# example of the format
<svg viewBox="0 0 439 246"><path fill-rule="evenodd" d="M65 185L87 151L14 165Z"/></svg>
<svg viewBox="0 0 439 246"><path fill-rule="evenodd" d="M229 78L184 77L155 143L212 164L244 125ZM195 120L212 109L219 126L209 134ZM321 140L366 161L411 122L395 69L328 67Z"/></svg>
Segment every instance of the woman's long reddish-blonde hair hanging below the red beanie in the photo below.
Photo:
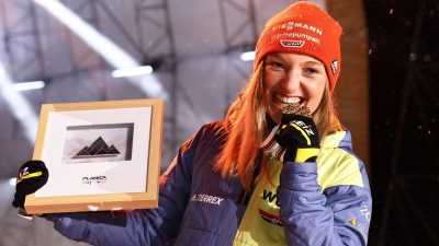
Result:
<svg viewBox="0 0 439 246"><path fill-rule="evenodd" d="M269 169L268 156L263 154L261 172L255 174L260 153L259 145L269 133L262 95L263 69L264 62L260 62L227 110L223 130L228 137L215 163L215 168L223 177L238 176L246 191L249 191L252 183ZM331 113L335 114L333 93L329 93L328 84L327 82L319 106L313 113L320 142L329 131Z"/></svg>

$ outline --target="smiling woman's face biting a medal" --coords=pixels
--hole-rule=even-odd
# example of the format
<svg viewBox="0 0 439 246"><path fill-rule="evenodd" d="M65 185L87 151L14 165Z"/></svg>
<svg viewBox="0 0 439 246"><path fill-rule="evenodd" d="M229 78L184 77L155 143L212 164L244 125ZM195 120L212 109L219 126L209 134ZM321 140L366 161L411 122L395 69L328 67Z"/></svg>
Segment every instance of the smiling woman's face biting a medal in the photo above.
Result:
<svg viewBox="0 0 439 246"><path fill-rule="evenodd" d="M267 113L279 124L282 106L300 103L314 113L320 104L327 75L322 61L292 52L267 56L263 70L263 99Z"/></svg>

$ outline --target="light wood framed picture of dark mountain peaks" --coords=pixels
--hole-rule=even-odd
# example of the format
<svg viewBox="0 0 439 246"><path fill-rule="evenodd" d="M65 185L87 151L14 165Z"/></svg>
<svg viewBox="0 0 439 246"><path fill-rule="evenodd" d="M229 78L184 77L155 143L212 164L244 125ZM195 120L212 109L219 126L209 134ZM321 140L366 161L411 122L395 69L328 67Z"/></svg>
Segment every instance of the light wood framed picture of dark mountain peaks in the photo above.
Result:
<svg viewBox="0 0 439 246"><path fill-rule="evenodd" d="M43 104L33 160L49 177L26 212L157 208L162 121L160 98Z"/></svg>

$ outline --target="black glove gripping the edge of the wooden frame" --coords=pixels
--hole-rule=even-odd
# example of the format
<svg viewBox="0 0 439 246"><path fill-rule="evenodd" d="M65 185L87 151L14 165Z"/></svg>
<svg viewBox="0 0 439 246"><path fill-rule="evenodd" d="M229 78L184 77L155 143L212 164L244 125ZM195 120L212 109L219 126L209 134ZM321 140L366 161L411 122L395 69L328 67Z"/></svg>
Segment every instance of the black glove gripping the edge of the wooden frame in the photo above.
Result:
<svg viewBox="0 0 439 246"><path fill-rule="evenodd" d="M42 161L29 161L24 163L16 177L15 195L12 206L24 209L24 200L27 195L43 187L48 179L48 171Z"/></svg>

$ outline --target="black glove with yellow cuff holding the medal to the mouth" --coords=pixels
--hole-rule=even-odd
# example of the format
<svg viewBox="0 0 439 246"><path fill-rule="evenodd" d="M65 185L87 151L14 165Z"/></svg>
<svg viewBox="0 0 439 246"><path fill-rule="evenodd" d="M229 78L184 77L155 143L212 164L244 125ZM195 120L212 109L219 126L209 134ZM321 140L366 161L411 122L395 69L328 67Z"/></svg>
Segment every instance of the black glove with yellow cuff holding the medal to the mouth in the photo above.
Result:
<svg viewBox="0 0 439 246"><path fill-rule="evenodd" d="M283 162L315 162L317 159L320 138L312 118L283 115L274 139L285 148Z"/></svg>

